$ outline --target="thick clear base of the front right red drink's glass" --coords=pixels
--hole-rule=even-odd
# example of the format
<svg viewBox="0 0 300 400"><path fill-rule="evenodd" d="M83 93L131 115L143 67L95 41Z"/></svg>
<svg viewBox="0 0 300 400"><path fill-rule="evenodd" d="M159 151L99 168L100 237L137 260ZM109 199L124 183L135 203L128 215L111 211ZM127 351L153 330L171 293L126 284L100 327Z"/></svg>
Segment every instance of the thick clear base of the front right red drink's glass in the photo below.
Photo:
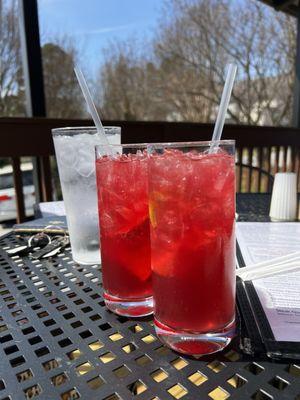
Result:
<svg viewBox="0 0 300 400"><path fill-rule="evenodd" d="M222 331L211 333L175 331L155 318L154 323L156 334L164 344L179 353L194 357L223 350L236 333L235 320L230 322Z"/></svg>

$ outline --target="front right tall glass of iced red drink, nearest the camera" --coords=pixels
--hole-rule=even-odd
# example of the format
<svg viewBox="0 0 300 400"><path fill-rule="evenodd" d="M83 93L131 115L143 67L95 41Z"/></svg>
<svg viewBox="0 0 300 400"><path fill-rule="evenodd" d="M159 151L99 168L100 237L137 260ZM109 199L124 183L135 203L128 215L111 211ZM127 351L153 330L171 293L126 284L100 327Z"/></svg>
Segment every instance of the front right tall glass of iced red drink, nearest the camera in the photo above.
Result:
<svg viewBox="0 0 300 400"><path fill-rule="evenodd" d="M235 333L234 141L218 143L148 145L155 328L194 356Z"/></svg>

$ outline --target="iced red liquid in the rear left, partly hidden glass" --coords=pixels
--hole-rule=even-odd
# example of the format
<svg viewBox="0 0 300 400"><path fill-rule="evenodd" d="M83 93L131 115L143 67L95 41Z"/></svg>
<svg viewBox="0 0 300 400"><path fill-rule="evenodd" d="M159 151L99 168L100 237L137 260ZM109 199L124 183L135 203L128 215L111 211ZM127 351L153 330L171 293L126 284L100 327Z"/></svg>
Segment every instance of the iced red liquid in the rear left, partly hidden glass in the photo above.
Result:
<svg viewBox="0 0 300 400"><path fill-rule="evenodd" d="M124 300L152 296L147 158L96 162L105 291Z"/></svg>

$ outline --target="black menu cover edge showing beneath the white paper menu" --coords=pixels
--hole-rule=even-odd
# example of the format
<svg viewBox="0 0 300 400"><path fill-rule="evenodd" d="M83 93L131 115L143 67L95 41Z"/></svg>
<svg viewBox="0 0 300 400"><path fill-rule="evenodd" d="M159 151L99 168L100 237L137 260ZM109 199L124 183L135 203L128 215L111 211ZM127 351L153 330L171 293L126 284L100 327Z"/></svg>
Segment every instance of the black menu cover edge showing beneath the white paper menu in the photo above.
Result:
<svg viewBox="0 0 300 400"><path fill-rule="evenodd" d="M245 266L237 244L237 259ZM251 281L237 278L237 306L240 314L240 348L246 354L274 359L300 359L299 342L277 341Z"/></svg>

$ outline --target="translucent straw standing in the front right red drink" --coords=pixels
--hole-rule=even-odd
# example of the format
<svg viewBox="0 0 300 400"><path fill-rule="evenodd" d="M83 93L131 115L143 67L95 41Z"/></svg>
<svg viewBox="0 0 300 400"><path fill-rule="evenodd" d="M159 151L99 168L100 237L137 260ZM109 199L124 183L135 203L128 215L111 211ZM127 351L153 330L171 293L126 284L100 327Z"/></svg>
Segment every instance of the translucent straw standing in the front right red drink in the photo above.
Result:
<svg viewBox="0 0 300 400"><path fill-rule="evenodd" d="M231 97L231 92L232 92L232 88L233 88L233 83L234 83L236 71L237 71L237 65L236 64L229 64L228 65L228 71L227 71L226 81L225 81L225 85L224 85L224 89L223 89L223 93L222 93L221 103L220 103L220 107L219 107L219 111L218 111L217 120L216 120L216 123L215 123L213 136L212 136L212 139L211 139L212 142L216 142L216 141L221 139L221 135L222 135L223 127L224 127L225 117L226 117L226 113L227 113L227 109L228 109L228 105L229 105L229 100L230 100L230 97ZM218 145L212 143L211 144L211 148L210 148L210 152L212 152L213 149L215 149L215 147L218 147Z"/></svg>

